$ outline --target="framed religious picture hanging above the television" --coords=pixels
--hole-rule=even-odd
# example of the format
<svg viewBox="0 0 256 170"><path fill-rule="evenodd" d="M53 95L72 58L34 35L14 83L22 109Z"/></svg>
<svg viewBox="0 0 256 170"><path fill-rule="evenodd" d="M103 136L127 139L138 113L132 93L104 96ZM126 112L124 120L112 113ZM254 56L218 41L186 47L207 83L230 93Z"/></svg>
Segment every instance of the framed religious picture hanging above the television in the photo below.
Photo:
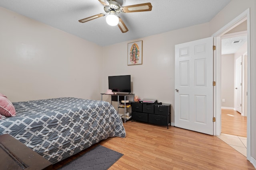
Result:
<svg viewBox="0 0 256 170"><path fill-rule="evenodd" d="M142 41L128 43L127 65L142 64Z"/></svg>

